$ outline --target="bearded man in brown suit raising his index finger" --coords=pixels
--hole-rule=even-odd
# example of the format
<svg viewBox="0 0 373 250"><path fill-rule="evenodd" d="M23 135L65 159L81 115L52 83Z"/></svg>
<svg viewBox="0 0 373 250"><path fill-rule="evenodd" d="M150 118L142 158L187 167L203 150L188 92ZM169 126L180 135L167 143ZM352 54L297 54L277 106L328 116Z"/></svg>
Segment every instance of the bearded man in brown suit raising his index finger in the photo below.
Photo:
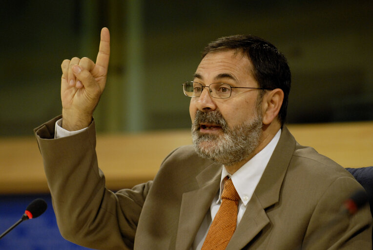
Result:
<svg viewBox="0 0 373 250"><path fill-rule="evenodd" d="M367 206L325 229L362 187L284 125L290 69L273 45L252 36L207 45L183 85L193 146L171 152L153 181L117 193L98 168L92 120L108 62L104 28L96 64L62 62L62 119L35 129L63 237L116 250L372 248Z"/></svg>

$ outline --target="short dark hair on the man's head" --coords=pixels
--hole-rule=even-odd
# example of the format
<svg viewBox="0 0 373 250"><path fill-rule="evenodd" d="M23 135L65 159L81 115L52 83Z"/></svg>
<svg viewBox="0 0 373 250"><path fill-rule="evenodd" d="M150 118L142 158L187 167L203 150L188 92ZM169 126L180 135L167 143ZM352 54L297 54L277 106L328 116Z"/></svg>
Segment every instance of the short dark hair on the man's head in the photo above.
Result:
<svg viewBox="0 0 373 250"><path fill-rule="evenodd" d="M221 37L209 43L203 53L235 49L246 55L252 66L253 75L260 88L281 89L284 91L284 100L278 114L283 125L286 119L288 98L291 85L291 74L288 61L277 48L266 40L251 35L234 35Z"/></svg>

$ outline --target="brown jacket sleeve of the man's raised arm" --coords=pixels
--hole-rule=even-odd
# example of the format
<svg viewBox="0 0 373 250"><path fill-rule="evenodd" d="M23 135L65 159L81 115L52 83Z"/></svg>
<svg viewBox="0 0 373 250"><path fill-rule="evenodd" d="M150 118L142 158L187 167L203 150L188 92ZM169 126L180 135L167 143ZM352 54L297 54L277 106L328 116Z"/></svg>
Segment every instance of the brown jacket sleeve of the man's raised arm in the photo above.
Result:
<svg viewBox="0 0 373 250"><path fill-rule="evenodd" d="M94 249L133 249L152 182L114 193L98 167L94 121L77 135L54 139L56 117L34 130L64 238Z"/></svg>

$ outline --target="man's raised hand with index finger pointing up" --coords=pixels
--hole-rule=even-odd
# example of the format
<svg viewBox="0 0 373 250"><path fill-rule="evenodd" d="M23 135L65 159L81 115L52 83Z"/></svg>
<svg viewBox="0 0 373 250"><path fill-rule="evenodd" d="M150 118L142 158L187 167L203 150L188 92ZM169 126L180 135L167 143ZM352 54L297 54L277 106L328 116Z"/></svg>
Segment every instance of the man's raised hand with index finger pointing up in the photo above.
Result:
<svg viewBox="0 0 373 250"><path fill-rule="evenodd" d="M62 62L62 128L75 131L91 123L93 111L105 88L109 57L110 34L107 28L103 28L96 64L87 57Z"/></svg>

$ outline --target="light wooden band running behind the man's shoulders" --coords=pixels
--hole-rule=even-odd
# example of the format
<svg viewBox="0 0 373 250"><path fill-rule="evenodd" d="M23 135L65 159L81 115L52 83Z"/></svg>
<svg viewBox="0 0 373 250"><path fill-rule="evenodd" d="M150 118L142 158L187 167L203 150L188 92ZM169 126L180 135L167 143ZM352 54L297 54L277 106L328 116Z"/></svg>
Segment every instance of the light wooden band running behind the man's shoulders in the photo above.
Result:
<svg viewBox="0 0 373 250"><path fill-rule="evenodd" d="M345 167L373 165L373 121L288 125L302 145L315 148ZM152 180L162 160L190 144L189 130L97 136L97 155L110 189ZM0 194L47 193L34 137L0 138Z"/></svg>

